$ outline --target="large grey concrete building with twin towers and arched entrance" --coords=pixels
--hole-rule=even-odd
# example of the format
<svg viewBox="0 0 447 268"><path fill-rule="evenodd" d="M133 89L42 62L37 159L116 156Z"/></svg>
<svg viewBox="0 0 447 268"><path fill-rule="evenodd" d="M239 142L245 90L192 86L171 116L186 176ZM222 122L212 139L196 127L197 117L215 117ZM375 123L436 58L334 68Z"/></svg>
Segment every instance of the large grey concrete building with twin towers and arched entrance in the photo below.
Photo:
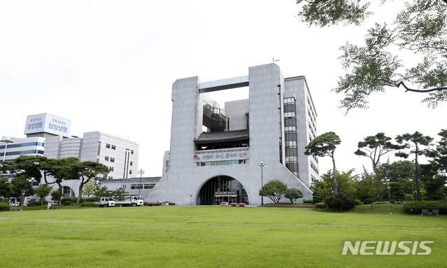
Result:
<svg viewBox="0 0 447 268"><path fill-rule="evenodd" d="M237 87L248 87L249 99L222 107L206 95ZM278 65L266 64L248 76L183 78L173 83L172 101L171 150L146 201L257 205L262 185L276 178L312 198L318 159L304 147L316 136L317 113L304 76L284 78Z"/></svg>

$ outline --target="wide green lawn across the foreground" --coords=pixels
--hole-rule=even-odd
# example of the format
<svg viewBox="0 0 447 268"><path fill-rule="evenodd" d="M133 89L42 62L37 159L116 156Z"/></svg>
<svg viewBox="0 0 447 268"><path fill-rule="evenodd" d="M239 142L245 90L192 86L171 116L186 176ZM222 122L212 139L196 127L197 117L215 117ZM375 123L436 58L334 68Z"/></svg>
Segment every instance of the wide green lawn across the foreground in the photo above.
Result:
<svg viewBox="0 0 447 268"><path fill-rule="evenodd" d="M151 206L0 212L0 267L447 267L447 216L389 205ZM345 241L434 241L430 255L341 255Z"/></svg>

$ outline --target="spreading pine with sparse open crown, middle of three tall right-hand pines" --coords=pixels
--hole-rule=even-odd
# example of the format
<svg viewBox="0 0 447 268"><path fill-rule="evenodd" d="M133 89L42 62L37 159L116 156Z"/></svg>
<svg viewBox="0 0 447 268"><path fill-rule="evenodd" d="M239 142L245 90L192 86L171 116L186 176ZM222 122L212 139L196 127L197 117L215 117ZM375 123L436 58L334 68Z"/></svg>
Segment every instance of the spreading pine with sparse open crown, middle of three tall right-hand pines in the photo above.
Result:
<svg viewBox="0 0 447 268"><path fill-rule="evenodd" d="M404 146L399 146L392 143L389 136L385 136L383 132L376 134L375 136L367 136L363 141L357 143L358 149L354 152L355 155L366 156L372 162L372 167L376 179L381 181L381 176L378 171L380 166L381 157L393 150L398 150L404 148ZM383 194L380 195L380 200L383 201Z"/></svg>

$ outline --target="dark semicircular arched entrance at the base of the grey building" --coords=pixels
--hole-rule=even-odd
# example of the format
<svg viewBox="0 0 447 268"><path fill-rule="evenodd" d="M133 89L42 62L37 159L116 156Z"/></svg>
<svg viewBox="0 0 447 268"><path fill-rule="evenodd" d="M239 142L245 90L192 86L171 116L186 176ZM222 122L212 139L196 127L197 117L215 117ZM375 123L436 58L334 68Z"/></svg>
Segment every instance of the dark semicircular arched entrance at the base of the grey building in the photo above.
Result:
<svg viewBox="0 0 447 268"><path fill-rule="evenodd" d="M242 184L229 176L216 176L199 190L197 205L218 205L220 202L248 204L248 195Z"/></svg>

